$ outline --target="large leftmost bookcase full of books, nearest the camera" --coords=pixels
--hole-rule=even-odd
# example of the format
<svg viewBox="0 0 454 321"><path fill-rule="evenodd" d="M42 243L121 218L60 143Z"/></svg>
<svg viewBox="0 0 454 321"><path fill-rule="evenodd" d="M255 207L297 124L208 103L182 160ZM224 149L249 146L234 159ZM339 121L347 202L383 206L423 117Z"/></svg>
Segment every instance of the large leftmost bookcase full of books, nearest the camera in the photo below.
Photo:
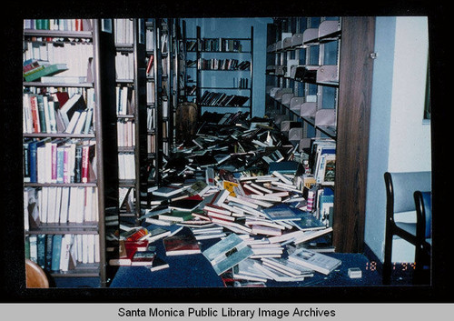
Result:
<svg viewBox="0 0 454 321"><path fill-rule="evenodd" d="M109 125L114 115L103 107L114 103L108 89L114 75L100 75L101 70L114 70L112 34L97 19L24 24L24 61L67 66L54 78L23 83L25 253L55 286L59 279L78 277L104 287L112 277L105 268L104 220L106 212L117 210L117 176L112 175L117 164L108 161L116 151L116 128ZM73 96L84 102L73 114L82 125L76 132L59 117L65 99ZM44 109L38 116L31 112L34 100Z"/></svg>

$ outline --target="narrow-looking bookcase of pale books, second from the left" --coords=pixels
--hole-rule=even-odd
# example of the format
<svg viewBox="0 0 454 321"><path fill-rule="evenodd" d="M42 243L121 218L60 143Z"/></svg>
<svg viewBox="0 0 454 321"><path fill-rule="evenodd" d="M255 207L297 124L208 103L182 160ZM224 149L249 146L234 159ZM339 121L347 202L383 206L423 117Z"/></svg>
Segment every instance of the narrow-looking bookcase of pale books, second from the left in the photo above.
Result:
<svg viewBox="0 0 454 321"><path fill-rule="evenodd" d="M114 39L120 216L138 219L146 206L143 19L114 19Z"/></svg>

